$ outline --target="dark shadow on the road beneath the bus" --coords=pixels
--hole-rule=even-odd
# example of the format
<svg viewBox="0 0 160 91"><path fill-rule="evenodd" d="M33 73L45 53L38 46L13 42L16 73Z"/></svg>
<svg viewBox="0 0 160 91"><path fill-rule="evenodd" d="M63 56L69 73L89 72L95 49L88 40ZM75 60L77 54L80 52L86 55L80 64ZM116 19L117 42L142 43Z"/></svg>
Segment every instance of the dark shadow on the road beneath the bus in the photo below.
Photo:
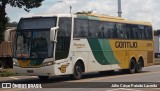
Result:
<svg viewBox="0 0 160 91"><path fill-rule="evenodd" d="M142 73L147 73L149 71L143 71ZM141 73L135 73L135 74L141 74ZM82 79L89 79L89 78L100 78L100 77L110 77L110 76L118 76L118 75L132 75L127 74L121 71L116 72L96 72L96 73L87 73L84 74ZM28 79L17 79L17 80L11 80L11 81L3 81L3 82L9 82L9 83L30 83L30 84L45 84L45 83L59 83L59 82L65 82L65 81L71 81L72 78L70 76L56 76L51 77L48 80L40 80L37 78L28 78ZM1 82L1 81L0 81Z"/></svg>

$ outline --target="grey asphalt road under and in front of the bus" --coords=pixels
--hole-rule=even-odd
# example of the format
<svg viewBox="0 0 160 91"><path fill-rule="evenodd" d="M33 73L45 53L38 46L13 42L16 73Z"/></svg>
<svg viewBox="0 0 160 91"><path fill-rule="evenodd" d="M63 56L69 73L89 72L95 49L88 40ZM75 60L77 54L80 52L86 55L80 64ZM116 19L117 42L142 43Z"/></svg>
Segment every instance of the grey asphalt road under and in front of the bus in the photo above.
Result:
<svg viewBox="0 0 160 91"><path fill-rule="evenodd" d="M137 83L138 82L138 83ZM146 83L141 83L146 82ZM157 83L155 83L157 82ZM0 89L3 91L160 91L160 88L127 88L131 84L138 86L160 86L160 65L143 68L142 73L126 74L114 73L89 73L84 74L81 80L72 80L69 76L51 77L41 81L36 76L0 77L0 83L15 84L41 84L43 89ZM112 87L114 85L116 87ZM119 86L119 87L118 87Z"/></svg>

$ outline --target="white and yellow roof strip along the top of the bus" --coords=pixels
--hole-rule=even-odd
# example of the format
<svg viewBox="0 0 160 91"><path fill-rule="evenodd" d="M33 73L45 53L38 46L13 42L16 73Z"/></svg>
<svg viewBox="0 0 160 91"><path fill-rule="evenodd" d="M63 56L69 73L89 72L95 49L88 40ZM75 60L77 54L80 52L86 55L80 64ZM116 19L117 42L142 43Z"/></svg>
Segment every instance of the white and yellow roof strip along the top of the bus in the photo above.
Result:
<svg viewBox="0 0 160 91"><path fill-rule="evenodd" d="M32 17L71 17L71 14L42 14L42 15L33 15L30 17L22 18L32 18ZM99 14L74 14L74 17L80 19L90 19L90 20L99 20L99 21L110 21L110 22L120 22L128 24L140 24L140 25L152 25L150 22L139 22L139 21L130 21L121 17L108 16L108 15L99 15Z"/></svg>

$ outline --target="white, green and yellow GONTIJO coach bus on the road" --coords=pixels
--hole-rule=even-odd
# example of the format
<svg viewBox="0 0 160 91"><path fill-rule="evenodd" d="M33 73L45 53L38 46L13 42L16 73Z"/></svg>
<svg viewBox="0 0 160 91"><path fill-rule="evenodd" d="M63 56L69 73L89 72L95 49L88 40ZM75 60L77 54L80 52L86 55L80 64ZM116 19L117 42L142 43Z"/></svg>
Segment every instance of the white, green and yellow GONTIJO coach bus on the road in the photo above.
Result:
<svg viewBox="0 0 160 91"><path fill-rule="evenodd" d="M18 23L13 68L42 80L113 70L135 73L153 64L153 50L149 22L98 14L36 15Z"/></svg>

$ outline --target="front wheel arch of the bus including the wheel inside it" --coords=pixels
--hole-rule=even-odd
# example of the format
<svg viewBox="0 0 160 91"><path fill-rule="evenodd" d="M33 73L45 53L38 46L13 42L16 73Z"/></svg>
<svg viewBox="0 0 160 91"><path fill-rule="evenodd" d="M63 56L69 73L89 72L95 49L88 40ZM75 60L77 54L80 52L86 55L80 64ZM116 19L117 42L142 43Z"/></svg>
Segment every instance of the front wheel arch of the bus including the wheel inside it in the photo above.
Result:
<svg viewBox="0 0 160 91"><path fill-rule="evenodd" d="M76 61L73 67L72 78L75 80L81 79L83 72L85 72L85 65L84 65L84 62L81 59L79 59Z"/></svg>

